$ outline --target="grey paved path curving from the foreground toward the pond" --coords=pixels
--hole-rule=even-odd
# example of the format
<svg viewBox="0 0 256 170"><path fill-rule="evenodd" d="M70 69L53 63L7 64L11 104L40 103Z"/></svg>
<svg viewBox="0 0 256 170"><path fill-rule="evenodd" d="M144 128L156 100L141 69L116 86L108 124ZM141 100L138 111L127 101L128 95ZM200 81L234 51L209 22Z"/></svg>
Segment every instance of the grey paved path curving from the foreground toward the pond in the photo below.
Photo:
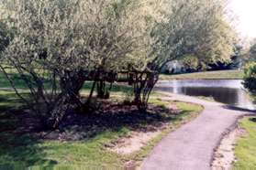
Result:
<svg viewBox="0 0 256 170"><path fill-rule="evenodd" d="M224 133L240 116L251 112L228 109L217 102L170 94L169 100L201 104L205 110L192 122L168 134L158 143L142 165L142 170L208 170L214 149Z"/></svg>

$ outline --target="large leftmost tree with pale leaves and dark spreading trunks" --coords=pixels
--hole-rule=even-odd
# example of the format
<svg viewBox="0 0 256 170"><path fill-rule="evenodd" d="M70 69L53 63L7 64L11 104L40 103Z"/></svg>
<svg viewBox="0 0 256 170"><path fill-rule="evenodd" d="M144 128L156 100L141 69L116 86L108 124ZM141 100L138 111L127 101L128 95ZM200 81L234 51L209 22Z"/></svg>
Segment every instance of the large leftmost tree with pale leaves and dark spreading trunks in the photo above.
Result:
<svg viewBox="0 0 256 170"><path fill-rule="evenodd" d="M1 53L1 68L48 127L58 127L67 112L83 105L79 90L85 80L122 69L145 40L144 29L133 25L139 16L130 0L14 1L7 6L7 27L15 34ZM19 92L10 69L29 97Z"/></svg>

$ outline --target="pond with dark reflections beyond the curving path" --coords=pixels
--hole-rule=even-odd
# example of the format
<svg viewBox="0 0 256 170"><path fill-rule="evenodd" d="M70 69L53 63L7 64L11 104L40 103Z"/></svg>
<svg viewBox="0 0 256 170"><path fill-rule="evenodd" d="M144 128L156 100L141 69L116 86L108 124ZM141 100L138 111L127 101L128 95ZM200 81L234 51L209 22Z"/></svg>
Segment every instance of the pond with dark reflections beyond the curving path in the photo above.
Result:
<svg viewBox="0 0 256 170"><path fill-rule="evenodd" d="M256 104L250 101L249 94L243 89L242 80L160 81L156 89L189 96L211 97L228 105L256 110Z"/></svg>

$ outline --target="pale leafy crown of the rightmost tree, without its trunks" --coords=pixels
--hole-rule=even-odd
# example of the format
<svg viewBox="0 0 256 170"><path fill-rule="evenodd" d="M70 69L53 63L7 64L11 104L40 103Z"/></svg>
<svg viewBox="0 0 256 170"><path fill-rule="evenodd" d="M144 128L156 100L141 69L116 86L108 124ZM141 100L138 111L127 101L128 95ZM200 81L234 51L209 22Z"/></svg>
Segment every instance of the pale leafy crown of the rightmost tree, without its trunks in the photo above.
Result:
<svg viewBox="0 0 256 170"><path fill-rule="evenodd" d="M235 40L225 1L173 0L168 15L153 31L158 68L187 56L199 62L230 58ZM159 49L159 50L158 50Z"/></svg>

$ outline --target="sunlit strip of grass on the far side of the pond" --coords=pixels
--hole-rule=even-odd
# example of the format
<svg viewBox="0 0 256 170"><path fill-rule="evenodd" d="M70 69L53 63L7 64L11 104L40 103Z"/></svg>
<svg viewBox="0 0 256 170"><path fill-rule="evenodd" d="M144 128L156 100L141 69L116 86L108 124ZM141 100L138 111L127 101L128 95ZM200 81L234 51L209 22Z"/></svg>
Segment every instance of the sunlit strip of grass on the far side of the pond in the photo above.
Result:
<svg viewBox="0 0 256 170"><path fill-rule="evenodd" d="M206 71L186 74L161 74L160 80L241 80L242 70Z"/></svg>

